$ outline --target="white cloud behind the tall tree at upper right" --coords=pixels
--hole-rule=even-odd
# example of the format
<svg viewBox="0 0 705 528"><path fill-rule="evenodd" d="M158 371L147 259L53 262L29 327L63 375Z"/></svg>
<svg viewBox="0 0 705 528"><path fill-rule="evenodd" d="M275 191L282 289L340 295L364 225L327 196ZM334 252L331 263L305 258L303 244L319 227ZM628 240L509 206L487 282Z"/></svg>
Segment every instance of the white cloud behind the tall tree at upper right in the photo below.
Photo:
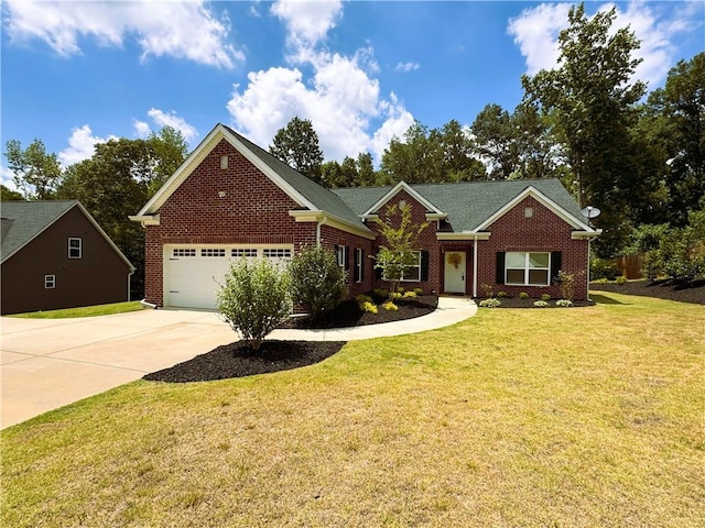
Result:
<svg viewBox="0 0 705 528"><path fill-rule="evenodd" d="M605 3L597 11L608 10L612 6ZM535 75L541 69L552 69L557 65L557 36L561 30L567 28L570 8L571 4L567 3L542 3L525 9L509 21L508 32L525 57L528 75ZM641 47L634 52L634 57L643 61L633 77L650 86L660 85L675 62L676 48L672 40L679 33L693 31L698 24L703 24L693 16L693 6L688 2L668 3L662 8L657 11L647 2L632 1L627 4L626 11L617 9L612 24L614 30L630 25L641 41Z"/></svg>

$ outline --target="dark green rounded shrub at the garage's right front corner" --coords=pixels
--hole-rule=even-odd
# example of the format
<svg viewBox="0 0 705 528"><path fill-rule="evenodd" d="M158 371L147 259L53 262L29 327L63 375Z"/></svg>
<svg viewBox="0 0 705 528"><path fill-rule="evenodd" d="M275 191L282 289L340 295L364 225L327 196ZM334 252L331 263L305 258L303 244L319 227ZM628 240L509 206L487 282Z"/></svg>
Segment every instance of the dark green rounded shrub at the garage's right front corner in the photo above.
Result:
<svg viewBox="0 0 705 528"><path fill-rule="evenodd" d="M335 253L321 245L306 245L294 255L289 265L292 296L312 319L335 308L348 294L345 271Z"/></svg>

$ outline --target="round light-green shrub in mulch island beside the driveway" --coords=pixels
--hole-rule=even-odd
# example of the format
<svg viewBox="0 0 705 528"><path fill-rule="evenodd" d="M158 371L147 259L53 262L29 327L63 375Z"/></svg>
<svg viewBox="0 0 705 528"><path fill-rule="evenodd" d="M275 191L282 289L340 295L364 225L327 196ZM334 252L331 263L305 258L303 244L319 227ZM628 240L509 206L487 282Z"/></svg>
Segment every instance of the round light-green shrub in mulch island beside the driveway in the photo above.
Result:
<svg viewBox="0 0 705 528"><path fill-rule="evenodd" d="M230 266L217 296L218 311L249 346L258 351L264 338L291 314L289 273L268 258L246 257Z"/></svg>

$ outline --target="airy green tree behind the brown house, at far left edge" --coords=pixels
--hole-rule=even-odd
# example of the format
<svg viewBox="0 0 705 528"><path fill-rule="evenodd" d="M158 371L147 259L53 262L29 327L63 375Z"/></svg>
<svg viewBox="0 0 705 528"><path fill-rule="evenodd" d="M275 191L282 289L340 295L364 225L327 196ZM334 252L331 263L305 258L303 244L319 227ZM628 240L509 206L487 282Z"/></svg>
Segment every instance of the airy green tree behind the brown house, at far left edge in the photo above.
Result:
<svg viewBox="0 0 705 528"><path fill-rule="evenodd" d="M12 180L29 200L48 200L54 197L62 177L62 167L54 153L47 153L42 140L35 139L26 148L18 140L6 143L8 168Z"/></svg>

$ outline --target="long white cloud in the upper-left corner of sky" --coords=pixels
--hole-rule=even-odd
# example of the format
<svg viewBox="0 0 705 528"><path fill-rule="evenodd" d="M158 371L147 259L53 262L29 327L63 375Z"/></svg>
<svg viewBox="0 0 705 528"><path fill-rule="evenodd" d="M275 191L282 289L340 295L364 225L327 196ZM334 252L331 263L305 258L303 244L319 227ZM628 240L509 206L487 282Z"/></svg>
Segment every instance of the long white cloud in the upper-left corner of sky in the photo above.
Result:
<svg viewBox="0 0 705 528"><path fill-rule="evenodd" d="M142 59L170 55L232 68L245 58L227 43L229 21L217 20L202 0L152 2L37 2L11 0L4 29L13 42L44 41L62 56L82 53L79 38L121 47L134 37Z"/></svg>

